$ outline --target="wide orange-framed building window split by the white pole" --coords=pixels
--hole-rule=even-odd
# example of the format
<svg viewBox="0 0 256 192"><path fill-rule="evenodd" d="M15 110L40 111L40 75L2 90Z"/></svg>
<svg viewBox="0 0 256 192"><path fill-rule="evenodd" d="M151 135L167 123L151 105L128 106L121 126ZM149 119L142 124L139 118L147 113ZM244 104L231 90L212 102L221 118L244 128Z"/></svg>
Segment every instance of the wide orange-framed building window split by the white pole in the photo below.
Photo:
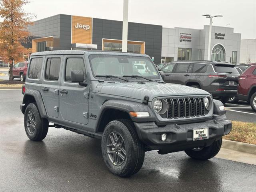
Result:
<svg viewBox="0 0 256 192"><path fill-rule="evenodd" d="M128 53L138 53L140 54L141 45L127 44ZM108 43L104 42L105 51L122 51L122 43Z"/></svg>

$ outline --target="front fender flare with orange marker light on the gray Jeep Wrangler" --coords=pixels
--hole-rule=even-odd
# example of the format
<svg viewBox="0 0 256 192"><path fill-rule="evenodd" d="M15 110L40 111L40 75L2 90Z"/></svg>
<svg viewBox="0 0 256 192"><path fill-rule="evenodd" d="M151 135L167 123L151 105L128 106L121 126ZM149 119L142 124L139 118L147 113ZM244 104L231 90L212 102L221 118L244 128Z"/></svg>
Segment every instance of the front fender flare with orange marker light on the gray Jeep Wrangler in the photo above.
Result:
<svg viewBox="0 0 256 192"><path fill-rule="evenodd" d="M114 110L120 110L122 112L126 112L129 116L129 112L148 112L149 117L133 117L130 116L133 122L153 122L155 120L154 113L150 109L148 105L133 102L133 101L127 101L127 100L108 100L104 102L102 107L100 108L99 112L99 118L96 122L96 132L99 130L100 122L104 116L104 112L108 109L114 109Z"/></svg>

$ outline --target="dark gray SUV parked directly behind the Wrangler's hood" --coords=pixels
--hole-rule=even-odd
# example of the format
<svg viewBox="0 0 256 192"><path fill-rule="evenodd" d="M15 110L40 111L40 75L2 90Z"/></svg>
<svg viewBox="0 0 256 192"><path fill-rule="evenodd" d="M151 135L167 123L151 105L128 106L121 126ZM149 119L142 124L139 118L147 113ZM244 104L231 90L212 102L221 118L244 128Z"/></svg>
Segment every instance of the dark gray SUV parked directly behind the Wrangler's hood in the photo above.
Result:
<svg viewBox="0 0 256 192"><path fill-rule="evenodd" d="M233 64L195 60L170 62L160 68L160 74L167 83L206 90L223 103L236 96L240 75Z"/></svg>

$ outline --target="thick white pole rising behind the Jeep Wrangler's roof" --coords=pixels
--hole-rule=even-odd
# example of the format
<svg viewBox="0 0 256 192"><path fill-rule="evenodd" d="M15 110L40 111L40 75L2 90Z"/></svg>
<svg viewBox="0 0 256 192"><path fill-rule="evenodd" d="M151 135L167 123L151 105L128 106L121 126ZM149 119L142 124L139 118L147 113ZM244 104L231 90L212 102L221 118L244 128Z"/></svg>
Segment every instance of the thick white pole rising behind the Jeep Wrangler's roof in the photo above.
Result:
<svg viewBox="0 0 256 192"><path fill-rule="evenodd" d="M127 38L128 38L128 0L124 0L122 52L127 52Z"/></svg>

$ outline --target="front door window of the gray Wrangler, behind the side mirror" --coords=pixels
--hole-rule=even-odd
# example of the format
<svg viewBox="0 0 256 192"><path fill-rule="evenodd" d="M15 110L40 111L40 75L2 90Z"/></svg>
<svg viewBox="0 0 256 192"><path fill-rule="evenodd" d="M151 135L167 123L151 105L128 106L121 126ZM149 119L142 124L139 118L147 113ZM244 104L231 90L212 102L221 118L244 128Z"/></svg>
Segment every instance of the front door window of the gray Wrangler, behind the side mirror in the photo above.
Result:
<svg viewBox="0 0 256 192"><path fill-rule="evenodd" d="M71 82L71 71L72 70L83 71L84 72L84 80L86 80L84 60L82 58L67 58L66 72L65 72L65 81L66 82Z"/></svg>

